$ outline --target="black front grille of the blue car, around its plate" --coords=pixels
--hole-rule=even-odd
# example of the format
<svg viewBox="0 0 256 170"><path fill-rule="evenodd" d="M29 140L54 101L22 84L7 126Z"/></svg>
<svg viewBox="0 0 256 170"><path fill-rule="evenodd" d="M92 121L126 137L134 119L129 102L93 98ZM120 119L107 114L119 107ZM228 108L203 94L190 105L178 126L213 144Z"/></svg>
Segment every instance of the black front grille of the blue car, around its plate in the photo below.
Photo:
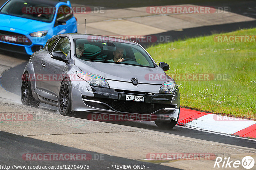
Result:
<svg viewBox="0 0 256 170"><path fill-rule="evenodd" d="M13 39L6 40L5 36L12 37L13 39L16 39L16 41L14 41ZM0 30L0 39L1 39L1 41L6 41L6 42L14 43L14 44L21 44L21 45L25 45L25 46L30 46L32 44L32 42L30 41L30 39L28 39L28 37L26 35L19 34L16 32Z"/></svg>

